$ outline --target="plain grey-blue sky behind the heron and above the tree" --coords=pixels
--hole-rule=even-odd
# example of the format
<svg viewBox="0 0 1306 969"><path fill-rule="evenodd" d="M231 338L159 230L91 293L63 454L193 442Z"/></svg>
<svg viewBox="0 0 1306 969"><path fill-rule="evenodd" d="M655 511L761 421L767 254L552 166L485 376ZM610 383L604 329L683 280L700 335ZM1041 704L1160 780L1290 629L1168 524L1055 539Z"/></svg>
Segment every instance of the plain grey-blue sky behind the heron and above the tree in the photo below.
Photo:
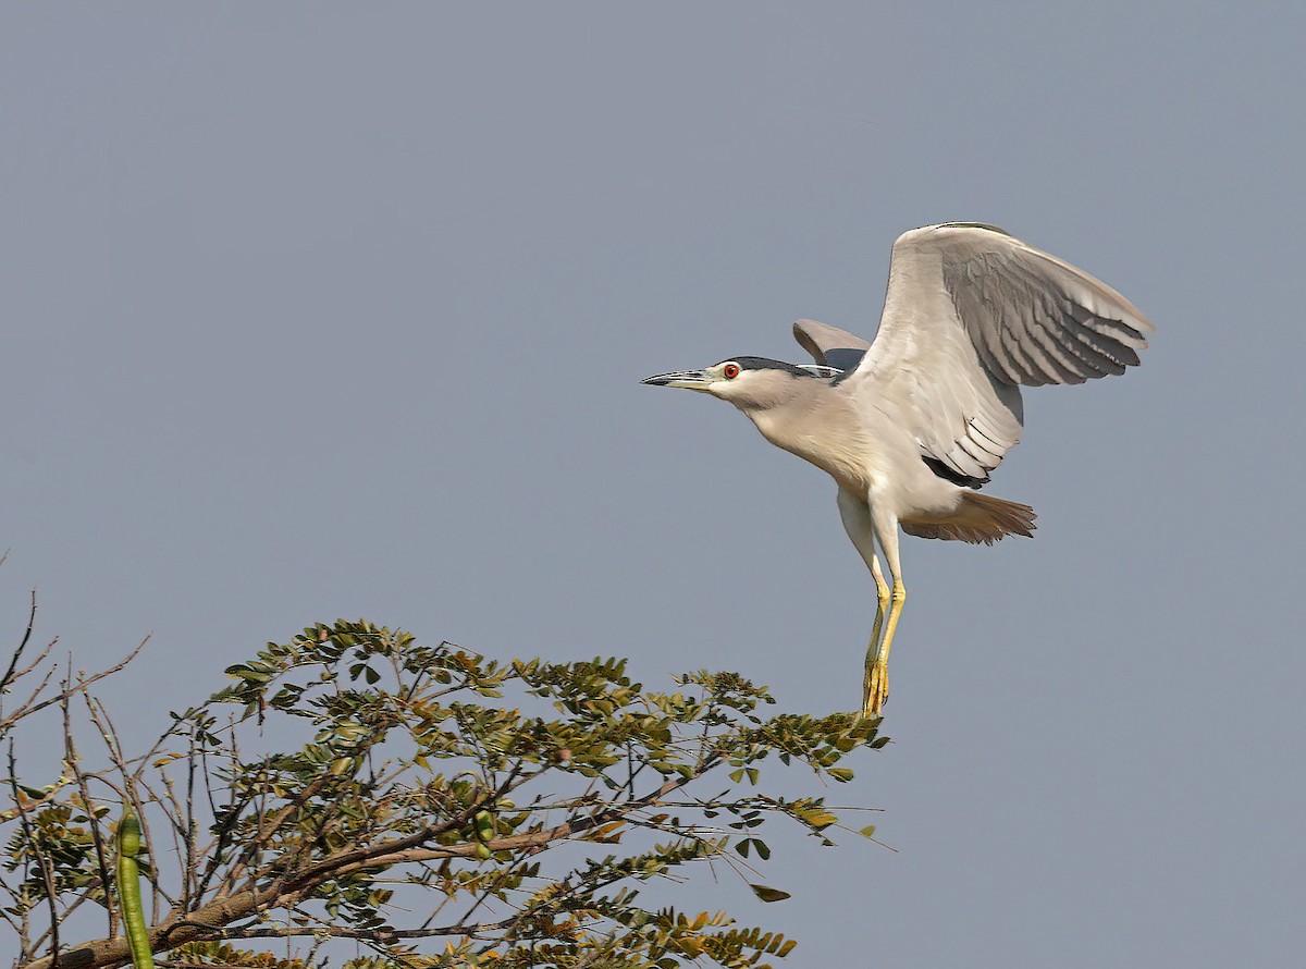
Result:
<svg viewBox="0 0 1306 969"><path fill-rule="evenodd" d="M1145 7L1145 9L1140 9ZM153 629L128 730L306 623L624 654L857 703L835 490L639 385L994 222L1157 324L1027 393L990 491L1037 541L908 539L885 731L786 846L794 966L1288 965L1306 948L1306 246L1294 4L0 9L0 605L78 662ZM799 850L802 849L802 850Z"/></svg>

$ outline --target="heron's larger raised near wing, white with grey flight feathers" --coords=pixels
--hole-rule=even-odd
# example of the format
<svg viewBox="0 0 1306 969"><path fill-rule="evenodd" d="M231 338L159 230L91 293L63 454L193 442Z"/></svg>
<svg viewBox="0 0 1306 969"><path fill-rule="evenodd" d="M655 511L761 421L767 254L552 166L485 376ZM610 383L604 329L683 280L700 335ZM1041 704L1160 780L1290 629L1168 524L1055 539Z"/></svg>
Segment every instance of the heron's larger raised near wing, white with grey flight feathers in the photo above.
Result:
<svg viewBox="0 0 1306 969"><path fill-rule="evenodd" d="M1020 439L1019 384L1123 373L1153 329L1111 287L1000 229L926 226L893 244L880 329L848 381L936 471L980 484Z"/></svg>

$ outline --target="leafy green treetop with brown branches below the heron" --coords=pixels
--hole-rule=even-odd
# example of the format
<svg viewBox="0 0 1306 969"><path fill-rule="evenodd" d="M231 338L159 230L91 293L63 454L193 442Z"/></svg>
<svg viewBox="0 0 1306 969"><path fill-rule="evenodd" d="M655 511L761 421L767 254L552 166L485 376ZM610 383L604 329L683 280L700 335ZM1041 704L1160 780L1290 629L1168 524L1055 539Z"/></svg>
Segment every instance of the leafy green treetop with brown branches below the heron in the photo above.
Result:
<svg viewBox="0 0 1306 969"><path fill-rule="evenodd" d="M4 686L43 678L64 759L54 781L21 782L14 734L39 700L9 720L0 707L13 798L0 932L14 966L128 964L107 888L133 806L149 945L171 965L308 969L342 939L371 953L354 969L765 965L794 940L646 897L701 866L788 897L757 874L765 825L831 844L840 811L767 793L764 761L828 786L852 778L846 755L885 743L853 713L763 716L768 691L730 673L660 692L622 659L499 663L367 622L306 628L227 674L127 756L91 678L52 686L16 658ZM97 765L74 742L86 725ZM74 927L89 940L71 942Z"/></svg>

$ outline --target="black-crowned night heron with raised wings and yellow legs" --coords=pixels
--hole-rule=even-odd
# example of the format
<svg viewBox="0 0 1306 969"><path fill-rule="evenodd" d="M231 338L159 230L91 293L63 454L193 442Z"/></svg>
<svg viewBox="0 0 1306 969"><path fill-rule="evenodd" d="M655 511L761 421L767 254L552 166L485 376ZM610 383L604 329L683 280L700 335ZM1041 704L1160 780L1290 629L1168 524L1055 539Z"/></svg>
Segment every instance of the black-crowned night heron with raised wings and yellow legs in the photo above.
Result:
<svg viewBox="0 0 1306 969"><path fill-rule="evenodd" d="M899 526L985 545L1029 537L1033 508L978 494L1020 440L1020 384L1123 373L1152 330L1088 273L994 226L944 222L893 243L874 345L799 320L794 337L816 366L734 357L644 383L730 401L767 440L838 483L844 528L879 593L862 701L879 716L906 599Z"/></svg>

